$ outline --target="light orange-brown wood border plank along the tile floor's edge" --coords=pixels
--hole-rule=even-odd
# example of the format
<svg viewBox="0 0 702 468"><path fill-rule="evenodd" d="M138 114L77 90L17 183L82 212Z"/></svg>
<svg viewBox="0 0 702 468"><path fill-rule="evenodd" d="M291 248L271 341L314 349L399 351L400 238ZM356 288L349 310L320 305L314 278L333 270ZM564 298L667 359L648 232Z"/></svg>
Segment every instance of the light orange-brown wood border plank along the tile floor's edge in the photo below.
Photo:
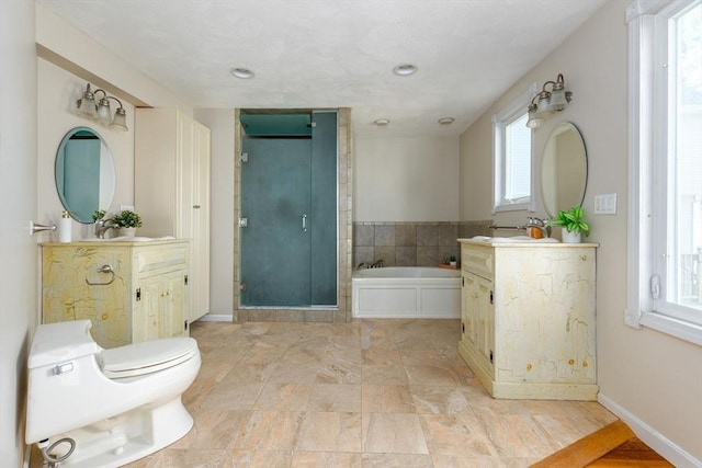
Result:
<svg viewBox="0 0 702 468"><path fill-rule="evenodd" d="M633 437L632 430L619 420L535 463L532 468L586 467Z"/></svg>

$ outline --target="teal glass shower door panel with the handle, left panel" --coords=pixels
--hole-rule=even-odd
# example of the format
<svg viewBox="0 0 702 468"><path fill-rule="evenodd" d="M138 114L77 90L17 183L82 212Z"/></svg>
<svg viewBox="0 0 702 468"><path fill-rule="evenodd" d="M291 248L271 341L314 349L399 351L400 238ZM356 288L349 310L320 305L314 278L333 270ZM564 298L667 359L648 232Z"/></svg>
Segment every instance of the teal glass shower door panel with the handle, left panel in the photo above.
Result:
<svg viewBox="0 0 702 468"><path fill-rule="evenodd" d="M245 138L241 306L310 305L310 139Z"/></svg>

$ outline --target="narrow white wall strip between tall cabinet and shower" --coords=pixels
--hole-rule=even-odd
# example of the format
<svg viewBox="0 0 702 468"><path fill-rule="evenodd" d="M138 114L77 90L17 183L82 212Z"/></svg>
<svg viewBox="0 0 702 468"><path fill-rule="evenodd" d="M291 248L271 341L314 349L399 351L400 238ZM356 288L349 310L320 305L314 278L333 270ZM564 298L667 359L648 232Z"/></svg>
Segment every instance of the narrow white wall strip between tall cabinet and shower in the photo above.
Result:
<svg viewBox="0 0 702 468"><path fill-rule="evenodd" d="M231 109L200 109L197 122L212 138L212 226L210 228L210 315L234 311L234 124Z"/></svg>

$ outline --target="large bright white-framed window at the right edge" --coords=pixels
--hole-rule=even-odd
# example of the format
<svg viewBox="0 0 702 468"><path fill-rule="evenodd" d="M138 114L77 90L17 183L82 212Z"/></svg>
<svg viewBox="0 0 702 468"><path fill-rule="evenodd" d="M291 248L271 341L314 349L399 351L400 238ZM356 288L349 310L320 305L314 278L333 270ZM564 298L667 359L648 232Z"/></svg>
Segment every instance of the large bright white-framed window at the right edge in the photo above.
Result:
<svg viewBox="0 0 702 468"><path fill-rule="evenodd" d="M627 11L626 323L702 344L702 0L643 4Z"/></svg>

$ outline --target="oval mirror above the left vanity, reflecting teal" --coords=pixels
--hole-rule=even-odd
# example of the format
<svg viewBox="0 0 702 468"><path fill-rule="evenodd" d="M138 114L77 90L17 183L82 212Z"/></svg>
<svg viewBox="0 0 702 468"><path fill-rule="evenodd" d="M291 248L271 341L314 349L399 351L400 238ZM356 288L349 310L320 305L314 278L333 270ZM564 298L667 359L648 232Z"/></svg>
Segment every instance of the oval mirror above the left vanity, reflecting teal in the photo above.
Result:
<svg viewBox="0 0 702 468"><path fill-rule="evenodd" d="M114 162L102 137L89 127L68 132L56 152L56 191L78 222L92 222L95 209L107 210L114 196Z"/></svg>

